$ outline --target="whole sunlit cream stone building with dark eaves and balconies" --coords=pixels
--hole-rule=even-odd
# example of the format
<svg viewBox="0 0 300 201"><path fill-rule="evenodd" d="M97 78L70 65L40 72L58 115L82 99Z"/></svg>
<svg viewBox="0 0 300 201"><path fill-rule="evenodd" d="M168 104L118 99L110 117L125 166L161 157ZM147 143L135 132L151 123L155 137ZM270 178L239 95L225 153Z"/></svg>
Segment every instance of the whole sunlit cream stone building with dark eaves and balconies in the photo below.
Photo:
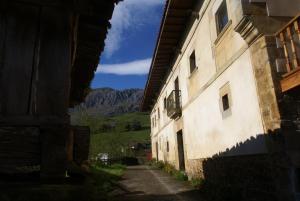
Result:
<svg viewBox="0 0 300 201"><path fill-rule="evenodd" d="M153 158L299 200L299 13L299 0L167 1L141 106Z"/></svg>

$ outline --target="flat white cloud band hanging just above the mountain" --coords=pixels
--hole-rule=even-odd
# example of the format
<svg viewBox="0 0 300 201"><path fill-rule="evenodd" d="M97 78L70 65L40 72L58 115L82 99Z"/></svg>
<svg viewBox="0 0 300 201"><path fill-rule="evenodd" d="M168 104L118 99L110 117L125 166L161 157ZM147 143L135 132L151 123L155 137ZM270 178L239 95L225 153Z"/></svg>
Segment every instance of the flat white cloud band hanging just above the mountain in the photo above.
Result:
<svg viewBox="0 0 300 201"><path fill-rule="evenodd" d="M149 72L151 59L131 61L121 64L102 64L96 73L115 75L146 75Z"/></svg>

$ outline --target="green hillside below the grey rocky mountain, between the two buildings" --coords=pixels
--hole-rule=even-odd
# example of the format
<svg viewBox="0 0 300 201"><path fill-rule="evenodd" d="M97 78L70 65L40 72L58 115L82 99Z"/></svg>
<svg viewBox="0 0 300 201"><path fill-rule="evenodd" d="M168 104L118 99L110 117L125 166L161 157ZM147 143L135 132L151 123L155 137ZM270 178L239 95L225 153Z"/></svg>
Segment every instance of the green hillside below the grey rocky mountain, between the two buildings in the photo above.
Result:
<svg viewBox="0 0 300 201"><path fill-rule="evenodd" d="M112 157L132 156L131 146L150 142L148 113L126 113L112 117L78 113L72 115L72 123L90 126L91 157L99 153L108 153Z"/></svg>

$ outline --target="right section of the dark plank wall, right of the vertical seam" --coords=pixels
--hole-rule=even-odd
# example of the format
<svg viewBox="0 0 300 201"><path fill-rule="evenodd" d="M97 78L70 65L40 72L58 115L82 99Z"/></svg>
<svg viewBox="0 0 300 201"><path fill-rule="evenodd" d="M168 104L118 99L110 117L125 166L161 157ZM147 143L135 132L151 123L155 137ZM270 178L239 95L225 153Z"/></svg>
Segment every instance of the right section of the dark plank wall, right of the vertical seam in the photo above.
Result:
<svg viewBox="0 0 300 201"><path fill-rule="evenodd" d="M67 115L71 75L72 15L44 8L40 26L36 113Z"/></svg>

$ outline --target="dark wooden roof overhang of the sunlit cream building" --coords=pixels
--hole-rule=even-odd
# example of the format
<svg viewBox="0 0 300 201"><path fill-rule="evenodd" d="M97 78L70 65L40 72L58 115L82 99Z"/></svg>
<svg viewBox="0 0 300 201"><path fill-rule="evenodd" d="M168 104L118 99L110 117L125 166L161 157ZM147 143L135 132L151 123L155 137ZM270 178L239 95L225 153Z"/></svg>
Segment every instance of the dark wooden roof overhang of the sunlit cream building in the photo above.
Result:
<svg viewBox="0 0 300 201"><path fill-rule="evenodd" d="M168 0L166 2L141 104L142 111L151 110L158 97L175 56L181 49L181 40L187 30L188 22L193 19L193 11L199 1L201 0Z"/></svg>

